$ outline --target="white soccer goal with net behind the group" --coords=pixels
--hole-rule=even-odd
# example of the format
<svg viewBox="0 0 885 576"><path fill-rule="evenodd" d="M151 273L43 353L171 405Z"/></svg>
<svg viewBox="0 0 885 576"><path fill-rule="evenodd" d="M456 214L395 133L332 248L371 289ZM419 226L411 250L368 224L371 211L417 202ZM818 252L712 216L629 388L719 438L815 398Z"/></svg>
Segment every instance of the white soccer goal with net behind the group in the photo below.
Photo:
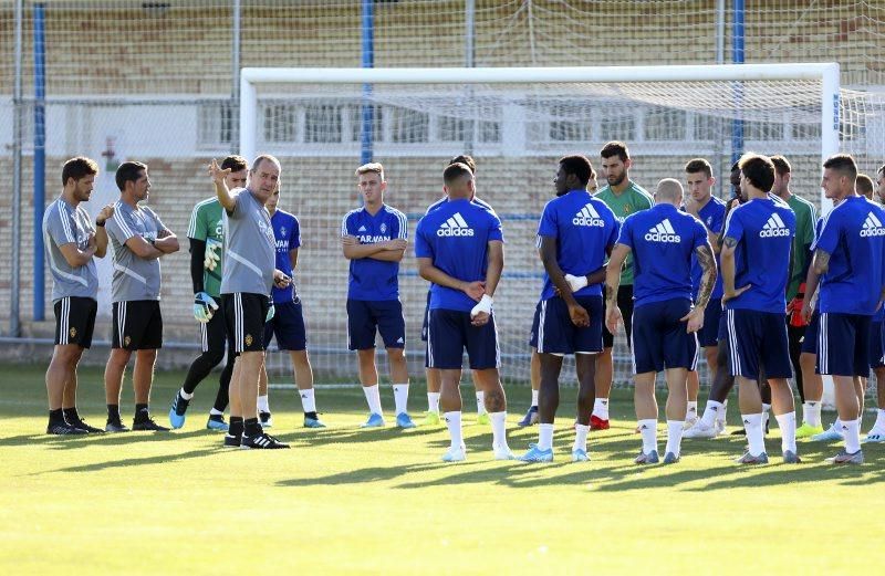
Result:
<svg viewBox="0 0 885 576"><path fill-rule="evenodd" d="M309 347L319 370L350 381L356 366L346 352L347 263L337 232L342 216L360 202L354 169L371 147L386 168L385 199L409 216L412 235L425 208L441 196L447 160L471 154L478 195L504 224L507 262L496 296L503 374L527 381L529 329L543 273L534 233L553 196L559 157L584 154L598 170L602 145L625 140L634 158L631 178L649 190L660 178L683 179L687 160L706 157L723 184L716 193L728 197L732 150L784 154L794 167L794 191L816 201L821 159L840 149L840 137L858 132L840 122L839 78L837 64L247 67L240 153L282 160L280 206L302 223L295 277ZM742 142L732 144L736 135ZM410 251L400 290L412 373L420 374L427 283L417 276ZM625 383L632 375L623 336L618 342L615 379ZM271 366L282 369L288 360Z"/></svg>

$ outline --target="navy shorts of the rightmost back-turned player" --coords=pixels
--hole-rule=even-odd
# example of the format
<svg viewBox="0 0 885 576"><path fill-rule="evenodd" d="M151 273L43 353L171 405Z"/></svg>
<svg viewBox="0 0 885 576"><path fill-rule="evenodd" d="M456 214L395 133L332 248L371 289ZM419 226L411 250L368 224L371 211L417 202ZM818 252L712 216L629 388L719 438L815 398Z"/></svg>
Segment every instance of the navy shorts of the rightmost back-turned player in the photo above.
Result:
<svg viewBox="0 0 885 576"><path fill-rule="evenodd" d="M821 313L818 374L870 376L870 322L860 314Z"/></svg>

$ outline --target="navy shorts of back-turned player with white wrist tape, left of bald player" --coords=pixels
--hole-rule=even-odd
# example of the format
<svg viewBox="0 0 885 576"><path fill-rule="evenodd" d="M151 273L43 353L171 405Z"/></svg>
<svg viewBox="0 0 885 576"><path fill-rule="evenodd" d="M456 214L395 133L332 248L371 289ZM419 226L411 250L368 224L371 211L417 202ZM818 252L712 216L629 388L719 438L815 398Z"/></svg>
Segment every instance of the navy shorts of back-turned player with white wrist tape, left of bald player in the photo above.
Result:
<svg viewBox="0 0 885 576"><path fill-rule="evenodd" d="M529 342L541 354L597 354L602 352L602 296L575 296L587 311L590 326L572 324L569 306L559 296L542 300L535 306L538 324Z"/></svg>

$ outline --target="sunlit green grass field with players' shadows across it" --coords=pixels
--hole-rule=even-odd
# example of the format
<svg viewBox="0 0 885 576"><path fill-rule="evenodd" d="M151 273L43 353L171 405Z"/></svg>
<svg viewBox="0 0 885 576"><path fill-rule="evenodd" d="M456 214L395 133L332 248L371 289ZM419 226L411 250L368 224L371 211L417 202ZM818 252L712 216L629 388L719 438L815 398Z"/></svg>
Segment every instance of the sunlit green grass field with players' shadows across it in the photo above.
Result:
<svg viewBox="0 0 885 576"><path fill-rule="evenodd" d="M803 442L799 467L778 458L746 469L731 463L742 439L688 440L680 463L637 468L622 390L616 425L591 436L589 463L569 461L570 402L554 463L491 461L491 431L468 413L468 461L447 465L438 460L445 428L362 431L362 391L326 389L317 402L329 429L301 429L294 392L274 390L272 433L292 450L223 450L204 429L215 380L198 388L180 431L58 438L43 434L43 369L0 366L2 574L881 570L881 444L865 448L863 467L829 465L835 446ZM100 376L80 377L81 412L93 425L104 421ZM157 375L157 420L180 378ZM383 398L389 415L389 388ZM521 453L537 439L537 428L516 427L529 390L509 398L510 446ZM413 413L425 404L413 386ZM775 430L768 447L780 453Z"/></svg>

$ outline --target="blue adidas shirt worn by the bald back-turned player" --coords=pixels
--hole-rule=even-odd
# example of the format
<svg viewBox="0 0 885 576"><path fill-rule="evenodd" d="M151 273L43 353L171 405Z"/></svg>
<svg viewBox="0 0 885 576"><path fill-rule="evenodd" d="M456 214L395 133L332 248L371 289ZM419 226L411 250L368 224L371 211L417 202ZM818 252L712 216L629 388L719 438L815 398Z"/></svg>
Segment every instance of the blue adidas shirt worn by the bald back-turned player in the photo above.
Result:
<svg viewBox="0 0 885 576"><path fill-rule="evenodd" d="M697 218L673 205L655 205L624 220L617 243L633 251L636 306L691 300L691 255L707 244L707 229Z"/></svg>

